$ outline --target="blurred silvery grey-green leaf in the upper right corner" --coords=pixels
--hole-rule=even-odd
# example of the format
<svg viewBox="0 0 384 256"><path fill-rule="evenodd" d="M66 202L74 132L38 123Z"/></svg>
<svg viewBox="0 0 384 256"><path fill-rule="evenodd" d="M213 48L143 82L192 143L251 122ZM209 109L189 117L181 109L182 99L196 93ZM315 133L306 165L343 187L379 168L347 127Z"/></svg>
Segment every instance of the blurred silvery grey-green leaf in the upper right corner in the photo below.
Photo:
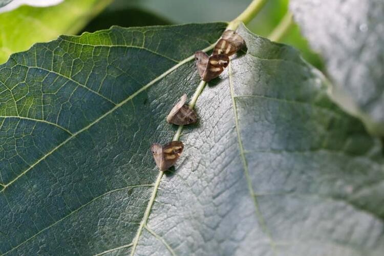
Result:
<svg viewBox="0 0 384 256"><path fill-rule="evenodd" d="M291 9L327 63L333 98L384 136L384 2L295 0Z"/></svg>

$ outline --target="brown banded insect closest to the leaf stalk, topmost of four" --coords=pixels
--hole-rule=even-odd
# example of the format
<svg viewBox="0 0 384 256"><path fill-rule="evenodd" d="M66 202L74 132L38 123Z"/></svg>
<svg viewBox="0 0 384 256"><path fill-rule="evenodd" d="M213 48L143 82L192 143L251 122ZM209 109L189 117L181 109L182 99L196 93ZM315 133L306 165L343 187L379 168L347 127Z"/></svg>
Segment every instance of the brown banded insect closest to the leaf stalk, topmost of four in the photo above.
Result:
<svg viewBox="0 0 384 256"><path fill-rule="evenodd" d="M225 54L230 56L243 48L244 44L245 42L243 37L241 37L236 31L226 30L217 42L212 55Z"/></svg>

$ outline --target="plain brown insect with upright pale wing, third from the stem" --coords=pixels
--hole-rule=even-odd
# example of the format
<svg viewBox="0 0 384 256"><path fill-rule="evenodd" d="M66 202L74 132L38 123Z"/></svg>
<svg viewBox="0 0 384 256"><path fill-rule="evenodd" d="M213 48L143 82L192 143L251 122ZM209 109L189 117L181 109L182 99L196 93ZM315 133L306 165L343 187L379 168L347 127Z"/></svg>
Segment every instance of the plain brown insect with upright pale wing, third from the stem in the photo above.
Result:
<svg viewBox="0 0 384 256"><path fill-rule="evenodd" d="M185 104L187 95L181 96L180 101L173 107L167 116L167 122L176 125L186 125L197 121L196 111Z"/></svg>

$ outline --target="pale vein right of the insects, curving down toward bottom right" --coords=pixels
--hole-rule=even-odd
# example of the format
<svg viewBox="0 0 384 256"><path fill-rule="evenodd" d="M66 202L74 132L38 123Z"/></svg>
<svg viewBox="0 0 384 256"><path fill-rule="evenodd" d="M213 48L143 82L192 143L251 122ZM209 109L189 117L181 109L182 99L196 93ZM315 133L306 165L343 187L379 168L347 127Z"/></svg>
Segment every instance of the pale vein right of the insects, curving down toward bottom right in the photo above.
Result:
<svg viewBox="0 0 384 256"><path fill-rule="evenodd" d="M255 213L256 213L256 216L258 217L260 226L263 229L263 231L267 234L268 238L270 239L270 244L271 244L272 250L275 251L274 242L272 240L270 231L267 228L267 225L265 223L264 217L261 214L259 203L258 203L257 198L255 197L256 194L254 193L254 190L253 190L253 187L252 187L252 182L251 182L251 179L250 179L250 176L249 176L248 162L247 162L247 159L245 157L243 141L241 139L241 134L240 134L238 110L237 110L236 101L234 100L232 65L231 65L230 61L229 61L229 65L228 65L228 74L229 74L229 91L230 91L230 96L231 96L231 100L232 100L234 124L235 124L236 133L237 133L237 137L238 137L240 157L241 157L241 160L243 162L244 174L245 174L245 177L246 177L246 180L247 180L249 194L252 197L253 204L254 204L254 207L255 207Z"/></svg>

